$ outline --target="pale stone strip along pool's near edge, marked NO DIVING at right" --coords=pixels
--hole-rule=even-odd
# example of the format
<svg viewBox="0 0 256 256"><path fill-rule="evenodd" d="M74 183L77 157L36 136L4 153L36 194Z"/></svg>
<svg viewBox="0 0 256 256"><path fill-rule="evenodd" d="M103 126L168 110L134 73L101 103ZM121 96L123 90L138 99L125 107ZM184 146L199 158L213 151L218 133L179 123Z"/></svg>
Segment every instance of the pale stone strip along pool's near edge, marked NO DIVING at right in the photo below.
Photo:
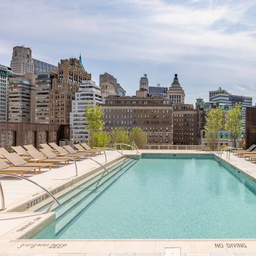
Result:
<svg viewBox="0 0 256 256"><path fill-rule="evenodd" d="M15 254L59 254L59 253L95 253L95 254L145 254L164 255L166 249L180 249L181 255L239 255L256 254L256 239L24 239L0 240L0 253ZM254 254L254 255L255 255ZM1 254L0 254L1 255ZM67 254L68 255L68 254ZM152 256L153 256L152 255Z"/></svg>

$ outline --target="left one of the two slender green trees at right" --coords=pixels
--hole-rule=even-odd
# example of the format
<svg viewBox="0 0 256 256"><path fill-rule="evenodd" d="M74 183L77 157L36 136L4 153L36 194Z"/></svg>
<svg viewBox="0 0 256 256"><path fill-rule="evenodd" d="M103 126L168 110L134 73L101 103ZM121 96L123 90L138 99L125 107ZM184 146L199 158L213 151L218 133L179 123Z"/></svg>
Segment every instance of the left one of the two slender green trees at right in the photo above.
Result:
<svg viewBox="0 0 256 256"><path fill-rule="evenodd" d="M218 145L218 131L222 127L221 107L211 109L206 115L205 139L210 150L216 150Z"/></svg>

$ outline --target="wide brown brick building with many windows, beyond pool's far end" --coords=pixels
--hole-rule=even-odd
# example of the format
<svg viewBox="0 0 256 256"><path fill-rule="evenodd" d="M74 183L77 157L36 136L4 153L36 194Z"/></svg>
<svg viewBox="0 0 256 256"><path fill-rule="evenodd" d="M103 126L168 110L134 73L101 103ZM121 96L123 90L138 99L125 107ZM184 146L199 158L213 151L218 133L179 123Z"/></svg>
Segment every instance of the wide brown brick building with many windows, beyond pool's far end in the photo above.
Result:
<svg viewBox="0 0 256 256"><path fill-rule="evenodd" d="M139 93L138 93L139 92ZM162 97L147 97L147 90L140 90L136 97L110 95L102 105L105 121L104 130L111 132L115 127L141 127L147 134L147 142L172 144L173 107Z"/></svg>

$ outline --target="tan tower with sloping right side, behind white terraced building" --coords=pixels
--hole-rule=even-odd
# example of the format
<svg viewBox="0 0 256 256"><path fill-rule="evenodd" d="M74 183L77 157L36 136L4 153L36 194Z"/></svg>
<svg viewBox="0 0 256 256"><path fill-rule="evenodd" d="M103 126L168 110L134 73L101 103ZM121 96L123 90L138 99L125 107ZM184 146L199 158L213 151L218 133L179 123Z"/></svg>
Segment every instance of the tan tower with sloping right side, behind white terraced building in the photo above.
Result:
<svg viewBox="0 0 256 256"><path fill-rule="evenodd" d="M117 83L117 79L108 73L100 75L100 89L103 102L105 101L105 98L108 97L108 95L124 97L126 93L123 87Z"/></svg>

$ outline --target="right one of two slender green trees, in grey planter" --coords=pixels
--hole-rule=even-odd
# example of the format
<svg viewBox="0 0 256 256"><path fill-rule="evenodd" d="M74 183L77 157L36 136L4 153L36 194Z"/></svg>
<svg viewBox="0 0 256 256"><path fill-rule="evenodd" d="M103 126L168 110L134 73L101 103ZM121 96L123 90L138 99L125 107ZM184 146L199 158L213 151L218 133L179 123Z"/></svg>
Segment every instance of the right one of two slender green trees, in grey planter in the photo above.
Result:
<svg viewBox="0 0 256 256"><path fill-rule="evenodd" d="M243 120L242 117L242 103L236 103L235 107L227 112L227 121L225 129L230 132L230 139L235 140L242 131Z"/></svg>

